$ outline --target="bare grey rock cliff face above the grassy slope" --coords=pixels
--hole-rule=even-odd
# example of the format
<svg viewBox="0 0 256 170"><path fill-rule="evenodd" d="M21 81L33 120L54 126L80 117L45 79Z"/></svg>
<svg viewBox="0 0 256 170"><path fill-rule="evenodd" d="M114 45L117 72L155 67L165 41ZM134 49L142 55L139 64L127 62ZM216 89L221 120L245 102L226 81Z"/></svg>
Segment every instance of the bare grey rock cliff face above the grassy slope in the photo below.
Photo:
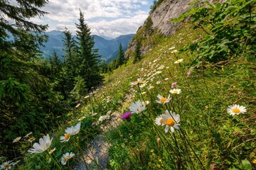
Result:
<svg viewBox="0 0 256 170"><path fill-rule="evenodd" d="M203 0L201 0L203 1ZM208 0L213 3L216 0ZM223 2L225 0L217 0ZM142 41L142 53L145 54L151 46L157 43L157 39L161 36L168 36L175 33L176 29L181 26L181 23L172 23L171 19L178 18L181 13L188 11L191 8L190 3L194 0L164 0L149 14L149 17L144 22L144 25L137 30L137 35L134 36L128 45L126 57L133 57L133 52L137 40ZM149 39L149 40L148 40Z"/></svg>

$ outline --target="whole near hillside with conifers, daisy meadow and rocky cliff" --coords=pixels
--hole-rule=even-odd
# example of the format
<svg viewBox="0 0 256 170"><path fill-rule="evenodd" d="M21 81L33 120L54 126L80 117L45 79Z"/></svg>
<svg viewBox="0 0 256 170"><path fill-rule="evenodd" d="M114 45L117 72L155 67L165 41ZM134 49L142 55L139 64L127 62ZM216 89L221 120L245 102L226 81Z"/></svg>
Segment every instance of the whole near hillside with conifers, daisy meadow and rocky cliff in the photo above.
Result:
<svg viewBox="0 0 256 170"><path fill-rule="evenodd" d="M0 23L1 169L256 169L255 1L194 1L170 17L177 3L154 1L110 64L82 11L62 62L41 60L44 39L26 32L46 26L21 20L46 1L0 4L20 22Z"/></svg>

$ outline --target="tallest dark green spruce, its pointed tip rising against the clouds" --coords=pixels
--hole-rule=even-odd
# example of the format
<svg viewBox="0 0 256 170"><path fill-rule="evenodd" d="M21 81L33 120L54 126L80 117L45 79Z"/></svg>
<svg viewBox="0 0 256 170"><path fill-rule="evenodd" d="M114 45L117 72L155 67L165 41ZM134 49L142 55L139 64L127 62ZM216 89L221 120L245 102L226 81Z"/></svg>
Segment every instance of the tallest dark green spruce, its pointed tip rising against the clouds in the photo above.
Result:
<svg viewBox="0 0 256 170"><path fill-rule="evenodd" d="M76 24L78 38L78 62L80 63L79 75L84 79L88 90L102 82L100 75L100 55L94 49L95 42L90 35L90 28L85 23L82 11L80 11L79 23Z"/></svg>

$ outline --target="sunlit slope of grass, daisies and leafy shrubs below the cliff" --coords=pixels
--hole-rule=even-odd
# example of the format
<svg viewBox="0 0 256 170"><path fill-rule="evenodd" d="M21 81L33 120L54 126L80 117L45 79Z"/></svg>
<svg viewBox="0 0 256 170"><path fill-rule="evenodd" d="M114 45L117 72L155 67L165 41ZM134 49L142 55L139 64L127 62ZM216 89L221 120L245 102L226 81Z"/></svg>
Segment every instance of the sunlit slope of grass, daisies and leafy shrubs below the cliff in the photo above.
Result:
<svg viewBox="0 0 256 170"><path fill-rule="evenodd" d="M256 169L254 2L200 3L173 20L191 18L168 37L154 30L145 38L143 26L134 38L151 44L146 55L80 96L67 123L48 130L47 145L41 139L28 154L31 143L19 139L23 156L6 164L73 169L102 133L107 169ZM97 161L86 167L93 164L102 169Z"/></svg>

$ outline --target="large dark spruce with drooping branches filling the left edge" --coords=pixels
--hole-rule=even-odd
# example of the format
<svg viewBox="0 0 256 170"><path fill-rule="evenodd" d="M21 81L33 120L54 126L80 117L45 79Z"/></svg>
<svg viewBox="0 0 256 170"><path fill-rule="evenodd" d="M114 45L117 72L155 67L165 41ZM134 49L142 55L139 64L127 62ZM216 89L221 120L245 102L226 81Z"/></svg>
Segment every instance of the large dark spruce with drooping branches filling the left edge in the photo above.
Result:
<svg viewBox="0 0 256 170"><path fill-rule="evenodd" d="M41 33L48 26L28 21L46 14L40 10L46 3L44 0L17 1L16 5L0 2L0 140L4 144L1 155L13 154L12 145L7 144L15 137L30 131L46 132L57 125L56 116L65 108L60 108L62 96L53 91L49 75L59 67L49 69L38 50L47 40ZM10 34L14 40L8 40Z"/></svg>

